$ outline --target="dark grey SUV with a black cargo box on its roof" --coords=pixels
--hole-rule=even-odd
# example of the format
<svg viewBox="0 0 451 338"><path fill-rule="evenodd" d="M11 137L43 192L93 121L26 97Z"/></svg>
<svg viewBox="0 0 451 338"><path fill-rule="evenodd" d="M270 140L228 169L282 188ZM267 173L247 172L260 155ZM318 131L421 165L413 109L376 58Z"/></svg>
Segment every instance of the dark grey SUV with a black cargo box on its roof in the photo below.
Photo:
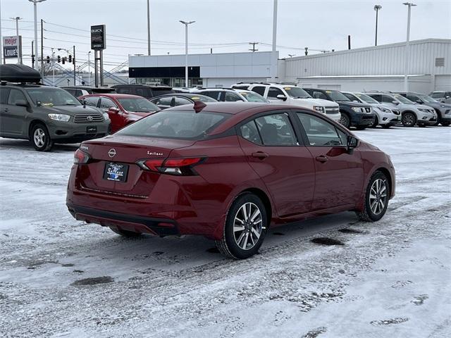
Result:
<svg viewBox="0 0 451 338"><path fill-rule="evenodd" d="M39 73L26 65L1 65L4 74L18 70ZM11 78L11 77L10 77ZM20 84L2 81L0 86L0 137L30 139L38 151L49 151L54 142L78 143L104 137L109 130L109 116L97 108L83 106L74 96L58 87L41 84Z"/></svg>

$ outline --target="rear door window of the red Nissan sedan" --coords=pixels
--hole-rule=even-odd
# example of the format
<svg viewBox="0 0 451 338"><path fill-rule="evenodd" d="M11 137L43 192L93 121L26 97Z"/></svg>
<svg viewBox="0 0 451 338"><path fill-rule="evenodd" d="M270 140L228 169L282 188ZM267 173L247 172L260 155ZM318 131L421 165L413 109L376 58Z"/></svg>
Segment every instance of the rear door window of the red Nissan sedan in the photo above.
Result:
<svg viewBox="0 0 451 338"><path fill-rule="evenodd" d="M265 115L255 119L265 146L295 146L295 132L285 113Z"/></svg>

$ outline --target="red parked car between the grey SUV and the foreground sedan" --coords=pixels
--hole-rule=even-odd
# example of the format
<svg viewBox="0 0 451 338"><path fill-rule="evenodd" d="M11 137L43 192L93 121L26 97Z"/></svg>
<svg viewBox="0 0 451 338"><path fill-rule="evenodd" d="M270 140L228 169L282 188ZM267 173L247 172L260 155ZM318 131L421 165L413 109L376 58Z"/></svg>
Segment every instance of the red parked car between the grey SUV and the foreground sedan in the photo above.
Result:
<svg viewBox="0 0 451 338"><path fill-rule="evenodd" d="M101 108L108 113L111 123L110 132L116 132L140 118L159 111L160 108L142 96L129 94L92 94L78 99L87 106Z"/></svg>

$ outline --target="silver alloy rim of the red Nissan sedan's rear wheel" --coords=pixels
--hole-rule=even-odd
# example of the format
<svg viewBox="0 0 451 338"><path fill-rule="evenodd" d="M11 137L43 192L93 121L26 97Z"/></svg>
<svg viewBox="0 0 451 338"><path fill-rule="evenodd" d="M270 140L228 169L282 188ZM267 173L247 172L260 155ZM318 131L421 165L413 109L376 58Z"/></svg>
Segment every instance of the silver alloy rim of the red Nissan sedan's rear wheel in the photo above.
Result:
<svg viewBox="0 0 451 338"><path fill-rule="evenodd" d="M233 221L233 238L240 249L252 249L261 236L262 218L259 207L252 202L243 204Z"/></svg>

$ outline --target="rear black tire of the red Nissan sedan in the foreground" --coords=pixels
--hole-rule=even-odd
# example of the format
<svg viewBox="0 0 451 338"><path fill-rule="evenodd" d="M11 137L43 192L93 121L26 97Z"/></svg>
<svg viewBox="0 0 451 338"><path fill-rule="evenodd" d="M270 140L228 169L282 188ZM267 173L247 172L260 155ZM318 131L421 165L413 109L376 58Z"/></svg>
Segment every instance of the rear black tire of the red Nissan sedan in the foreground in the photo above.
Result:
<svg viewBox="0 0 451 338"><path fill-rule="evenodd" d="M236 218L250 220L250 217L247 217L247 219L245 218L245 214L243 214L242 210L242 208L247 208L249 205L252 208L251 212L249 212L251 215L254 215L257 208L259 211L259 215L254 218L254 223L237 222ZM226 223L224 224L223 230L223 238L216 241L218 250L224 256L234 259L245 259L254 256L254 254L259 251L261 243L263 243L266 235L266 227L268 223L266 215L266 208L259 197L251 193L241 194L238 196L235 201L233 201L233 204L227 212ZM242 227L243 230L234 230L235 223L238 227ZM241 226L241 224L243 225ZM252 231L252 228L255 232ZM256 232L259 232L258 238ZM249 241L249 237L253 242L253 245ZM239 243L245 247L249 245L248 249L243 249Z"/></svg>

